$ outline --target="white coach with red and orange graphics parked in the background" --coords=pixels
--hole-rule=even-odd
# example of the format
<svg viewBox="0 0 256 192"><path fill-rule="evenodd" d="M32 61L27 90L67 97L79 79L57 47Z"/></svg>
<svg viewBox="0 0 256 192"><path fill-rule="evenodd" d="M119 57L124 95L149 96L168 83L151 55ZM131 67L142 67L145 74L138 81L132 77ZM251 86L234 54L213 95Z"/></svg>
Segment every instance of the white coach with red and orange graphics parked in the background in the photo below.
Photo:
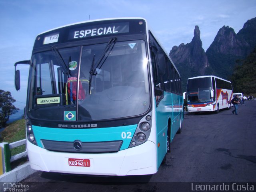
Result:
<svg viewBox="0 0 256 192"><path fill-rule="evenodd" d="M232 106L231 82L216 76L188 78L186 94L188 112L218 113L220 109Z"/></svg>

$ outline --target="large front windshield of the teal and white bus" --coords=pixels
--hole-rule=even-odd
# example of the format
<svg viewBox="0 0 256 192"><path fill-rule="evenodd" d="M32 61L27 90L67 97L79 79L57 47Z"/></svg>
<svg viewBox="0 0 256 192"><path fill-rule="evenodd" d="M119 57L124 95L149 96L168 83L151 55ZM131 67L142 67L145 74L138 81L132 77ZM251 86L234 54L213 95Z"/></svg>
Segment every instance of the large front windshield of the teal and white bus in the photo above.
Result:
<svg viewBox="0 0 256 192"><path fill-rule="evenodd" d="M150 106L147 64L143 40L35 53L28 112L34 118L58 121L143 114Z"/></svg>

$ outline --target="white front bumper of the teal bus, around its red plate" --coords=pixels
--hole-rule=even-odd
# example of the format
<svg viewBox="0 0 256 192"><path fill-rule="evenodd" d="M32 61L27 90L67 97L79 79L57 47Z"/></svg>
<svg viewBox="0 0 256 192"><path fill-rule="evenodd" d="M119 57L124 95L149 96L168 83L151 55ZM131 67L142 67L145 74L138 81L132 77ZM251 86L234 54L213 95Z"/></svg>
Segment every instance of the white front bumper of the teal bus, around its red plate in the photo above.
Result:
<svg viewBox="0 0 256 192"><path fill-rule="evenodd" d="M27 140L27 150L31 168L46 172L125 176L157 171L156 145L151 141L114 153L84 154L52 152ZM70 166L69 158L88 159L90 166Z"/></svg>

